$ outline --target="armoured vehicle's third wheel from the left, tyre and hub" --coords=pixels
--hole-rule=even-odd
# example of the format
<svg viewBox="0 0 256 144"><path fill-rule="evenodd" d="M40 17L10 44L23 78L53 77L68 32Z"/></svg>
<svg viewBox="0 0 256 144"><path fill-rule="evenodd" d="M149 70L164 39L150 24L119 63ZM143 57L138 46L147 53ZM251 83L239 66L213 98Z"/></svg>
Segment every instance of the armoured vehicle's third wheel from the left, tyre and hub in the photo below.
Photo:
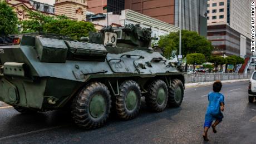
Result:
<svg viewBox="0 0 256 144"><path fill-rule="evenodd" d="M150 83L147 88L146 104L155 112L164 111L168 101L168 87L162 80Z"/></svg>

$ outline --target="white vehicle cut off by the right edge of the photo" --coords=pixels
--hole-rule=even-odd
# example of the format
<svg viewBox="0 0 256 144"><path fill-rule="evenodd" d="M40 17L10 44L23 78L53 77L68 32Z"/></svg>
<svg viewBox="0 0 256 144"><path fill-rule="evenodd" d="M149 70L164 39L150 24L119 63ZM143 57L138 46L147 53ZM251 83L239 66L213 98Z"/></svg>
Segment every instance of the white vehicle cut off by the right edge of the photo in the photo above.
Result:
<svg viewBox="0 0 256 144"><path fill-rule="evenodd" d="M252 77L250 77L248 94L249 102L253 102L256 97L256 71L254 71Z"/></svg>

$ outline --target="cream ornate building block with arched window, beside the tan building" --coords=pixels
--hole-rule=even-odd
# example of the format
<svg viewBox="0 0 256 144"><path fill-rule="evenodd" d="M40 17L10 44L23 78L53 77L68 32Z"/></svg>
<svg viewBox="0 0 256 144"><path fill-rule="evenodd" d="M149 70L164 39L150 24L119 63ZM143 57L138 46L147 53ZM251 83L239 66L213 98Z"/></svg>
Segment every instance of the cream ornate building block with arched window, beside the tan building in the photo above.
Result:
<svg viewBox="0 0 256 144"><path fill-rule="evenodd" d="M68 18L85 21L88 8L86 2L86 0L56 0L55 14L64 14Z"/></svg>

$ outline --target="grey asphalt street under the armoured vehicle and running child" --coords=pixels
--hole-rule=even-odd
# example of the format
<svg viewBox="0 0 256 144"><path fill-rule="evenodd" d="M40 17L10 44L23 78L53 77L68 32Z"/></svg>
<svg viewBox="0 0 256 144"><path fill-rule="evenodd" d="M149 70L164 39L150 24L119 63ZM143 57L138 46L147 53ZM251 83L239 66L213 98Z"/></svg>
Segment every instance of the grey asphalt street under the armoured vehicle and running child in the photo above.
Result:
<svg viewBox="0 0 256 144"><path fill-rule="evenodd" d="M248 103L248 83L226 83L223 122L209 131L205 143L255 143L256 102ZM203 123L211 86L187 88L179 108L147 110L145 103L134 120L110 118L96 130L82 130L63 111L21 115L0 107L0 143L204 143Z"/></svg>

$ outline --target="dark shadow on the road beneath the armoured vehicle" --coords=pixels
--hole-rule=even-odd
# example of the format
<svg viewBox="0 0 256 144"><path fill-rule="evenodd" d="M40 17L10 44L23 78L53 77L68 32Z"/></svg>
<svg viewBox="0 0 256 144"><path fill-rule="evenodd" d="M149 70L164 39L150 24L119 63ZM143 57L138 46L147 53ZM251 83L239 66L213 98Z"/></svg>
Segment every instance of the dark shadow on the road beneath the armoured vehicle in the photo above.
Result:
<svg viewBox="0 0 256 144"><path fill-rule="evenodd" d="M102 128L96 130L84 130L83 128L77 127L71 117L71 113L67 111L51 111L45 113L35 113L30 115L22 115L14 112L13 116L7 118L3 125L1 126L1 131L6 132L0 135L1 137L6 137L9 135L18 135L19 133L26 133L31 131L38 131L42 129L51 128L51 127L61 127L61 132L68 133L84 133L85 135L91 135L90 137L99 137L99 133L106 133L107 135L113 135L120 131L129 131L139 126L146 126L147 124L154 123L155 121L167 120L172 122L173 116L177 115L182 108L169 108L166 107L164 112L155 113L150 112L145 105L145 102L142 102L141 111L139 115L133 120L122 121L115 116L111 116L106 125ZM10 130L10 127L15 127L15 129ZM111 133L112 132L112 133ZM94 134L93 134L94 133ZM96 134L97 133L97 134Z"/></svg>

